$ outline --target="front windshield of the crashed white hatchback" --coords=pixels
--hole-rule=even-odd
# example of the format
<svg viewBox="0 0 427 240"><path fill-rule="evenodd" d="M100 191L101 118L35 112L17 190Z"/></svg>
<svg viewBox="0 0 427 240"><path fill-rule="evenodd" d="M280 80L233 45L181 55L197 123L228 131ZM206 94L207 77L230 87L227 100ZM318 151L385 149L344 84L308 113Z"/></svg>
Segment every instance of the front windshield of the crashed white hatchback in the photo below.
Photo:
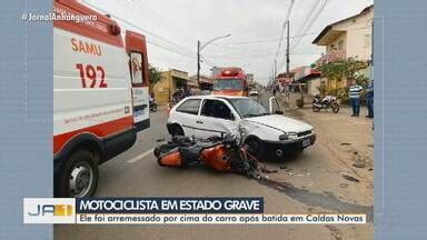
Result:
<svg viewBox="0 0 427 240"><path fill-rule="evenodd" d="M241 118L252 118L270 114L270 112L257 101L250 98L230 99L232 107L241 116Z"/></svg>

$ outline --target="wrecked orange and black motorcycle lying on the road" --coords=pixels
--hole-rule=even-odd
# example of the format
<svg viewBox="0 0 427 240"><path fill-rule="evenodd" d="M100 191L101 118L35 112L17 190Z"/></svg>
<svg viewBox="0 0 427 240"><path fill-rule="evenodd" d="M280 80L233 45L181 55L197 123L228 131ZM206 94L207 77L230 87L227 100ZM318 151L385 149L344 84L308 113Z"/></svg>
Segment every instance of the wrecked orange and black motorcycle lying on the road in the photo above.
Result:
<svg viewBox="0 0 427 240"><path fill-rule="evenodd" d="M250 176L258 161L239 138L226 134L206 140L177 136L155 149L157 161L162 167L188 168L203 164L217 171Z"/></svg>

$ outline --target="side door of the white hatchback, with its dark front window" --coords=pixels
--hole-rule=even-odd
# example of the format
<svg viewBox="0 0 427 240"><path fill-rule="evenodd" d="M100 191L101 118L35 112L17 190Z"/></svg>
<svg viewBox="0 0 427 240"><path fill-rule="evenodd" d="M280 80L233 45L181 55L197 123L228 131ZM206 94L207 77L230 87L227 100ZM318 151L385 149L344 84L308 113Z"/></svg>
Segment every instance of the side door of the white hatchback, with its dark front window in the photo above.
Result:
<svg viewBox="0 0 427 240"><path fill-rule="evenodd" d="M237 129L236 113L227 102L218 99L205 99L197 120L198 136L209 138L224 136Z"/></svg>

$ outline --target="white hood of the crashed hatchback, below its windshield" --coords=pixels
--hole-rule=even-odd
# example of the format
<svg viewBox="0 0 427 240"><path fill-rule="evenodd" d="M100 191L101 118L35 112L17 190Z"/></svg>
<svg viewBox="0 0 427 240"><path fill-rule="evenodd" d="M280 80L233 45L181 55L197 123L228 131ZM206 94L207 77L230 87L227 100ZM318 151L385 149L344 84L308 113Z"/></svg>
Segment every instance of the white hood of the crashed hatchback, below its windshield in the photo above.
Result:
<svg viewBox="0 0 427 240"><path fill-rule="evenodd" d="M310 124L280 114L247 118L245 121L256 122L258 124L278 129L285 132L301 132L312 130Z"/></svg>

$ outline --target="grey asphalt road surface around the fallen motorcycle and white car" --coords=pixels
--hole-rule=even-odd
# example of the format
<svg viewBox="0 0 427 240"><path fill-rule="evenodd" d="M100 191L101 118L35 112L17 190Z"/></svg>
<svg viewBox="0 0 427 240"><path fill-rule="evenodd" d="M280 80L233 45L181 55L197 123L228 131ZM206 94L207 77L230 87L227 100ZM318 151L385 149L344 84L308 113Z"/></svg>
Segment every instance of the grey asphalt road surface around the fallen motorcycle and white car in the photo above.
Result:
<svg viewBox="0 0 427 240"><path fill-rule="evenodd" d="M269 94L260 97L267 102ZM298 117L298 116L295 116ZM242 196L264 197L267 213L314 213L370 211L357 201L357 186L337 187L342 180L339 166L330 161L321 144L295 159L267 163L276 182L292 186L288 191L261 184L234 173L218 173L201 167L186 170L161 168L152 149L167 139L167 113L151 114L151 128L139 133L127 152L100 167L98 197ZM319 137L319 136L318 136ZM321 136L320 136L321 138ZM54 239L371 239L366 226L56 226Z"/></svg>

